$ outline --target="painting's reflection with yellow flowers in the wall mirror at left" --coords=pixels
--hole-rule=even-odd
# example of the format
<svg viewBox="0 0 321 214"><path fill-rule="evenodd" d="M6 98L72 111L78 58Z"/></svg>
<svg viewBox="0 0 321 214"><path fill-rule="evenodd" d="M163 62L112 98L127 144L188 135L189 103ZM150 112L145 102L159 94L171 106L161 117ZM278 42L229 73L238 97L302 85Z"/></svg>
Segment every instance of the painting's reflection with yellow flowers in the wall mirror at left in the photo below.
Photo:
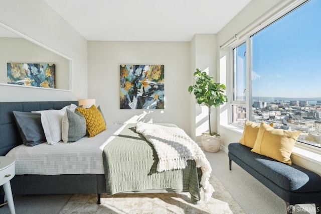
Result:
<svg viewBox="0 0 321 214"><path fill-rule="evenodd" d="M55 64L7 63L8 84L55 88Z"/></svg>

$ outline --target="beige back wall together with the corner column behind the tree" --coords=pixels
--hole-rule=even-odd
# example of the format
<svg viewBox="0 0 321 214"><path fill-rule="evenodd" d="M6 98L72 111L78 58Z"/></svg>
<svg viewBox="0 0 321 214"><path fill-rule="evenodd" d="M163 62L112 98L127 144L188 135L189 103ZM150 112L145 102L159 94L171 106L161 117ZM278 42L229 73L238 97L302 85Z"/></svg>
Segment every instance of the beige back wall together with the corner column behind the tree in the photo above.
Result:
<svg viewBox="0 0 321 214"><path fill-rule="evenodd" d="M120 110L121 64L165 65L164 110ZM196 68L216 76L216 35L197 34L191 42L89 41L88 98L95 98L101 105L108 123L176 123L200 140L200 133L208 129L208 114L207 108L196 104L194 94L188 92Z"/></svg>

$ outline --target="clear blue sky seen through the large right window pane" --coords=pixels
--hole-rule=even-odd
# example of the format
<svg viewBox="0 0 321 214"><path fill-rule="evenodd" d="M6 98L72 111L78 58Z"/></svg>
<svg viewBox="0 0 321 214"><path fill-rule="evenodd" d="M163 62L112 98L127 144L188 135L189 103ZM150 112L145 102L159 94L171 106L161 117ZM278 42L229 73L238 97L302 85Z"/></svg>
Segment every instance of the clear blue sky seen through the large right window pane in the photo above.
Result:
<svg viewBox="0 0 321 214"><path fill-rule="evenodd" d="M252 96L321 97L321 0L252 37L254 76Z"/></svg>

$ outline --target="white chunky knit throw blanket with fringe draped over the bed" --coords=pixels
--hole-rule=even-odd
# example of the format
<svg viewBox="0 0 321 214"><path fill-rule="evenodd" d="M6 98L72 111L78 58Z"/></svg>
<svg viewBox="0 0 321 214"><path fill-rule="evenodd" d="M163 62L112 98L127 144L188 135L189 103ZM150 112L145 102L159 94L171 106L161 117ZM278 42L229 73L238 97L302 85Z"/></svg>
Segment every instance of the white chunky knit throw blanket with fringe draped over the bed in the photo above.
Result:
<svg viewBox="0 0 321 214"><path fill-rule="evenodd" d="M208 201L214 192L209 182L212 172L210 163L201 148L178 127L166 127L157 124L136 124L136 132L150 142L158 156L157 171L163 172L172 169L184 169L187 160L195 160L196 166L201 167L201 184L205 192L205 201Z"/></svg>

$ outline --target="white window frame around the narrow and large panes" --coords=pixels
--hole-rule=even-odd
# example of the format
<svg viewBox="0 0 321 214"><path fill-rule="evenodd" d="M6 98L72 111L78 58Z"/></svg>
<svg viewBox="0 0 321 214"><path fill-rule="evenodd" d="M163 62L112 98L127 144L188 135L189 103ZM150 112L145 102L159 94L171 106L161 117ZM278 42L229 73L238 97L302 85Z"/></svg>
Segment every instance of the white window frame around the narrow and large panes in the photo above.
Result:
<svg viewBox="0 0 321 214"><path fill-rule="evenodd" d="M251 31L249 31L245 36L243 36L242 38L238 38L236 41L232 42L229 45L229 57L230 57L230 71L229 71L229 76L232 77L230 78L230 94L229 96L232 97L232 99L229 102L229 113L228 113L228 124L232 127L235 127L237 129L241 129L243 130L243 126L239 125L239 124L235 124L233 123L233 105L240 105L240 104L245 104L246 106L246 117L245 119L247 120L251 120L251 62L252 62L252 58L251 58L251 36L256 34L257 32L261 31L262 29L268 27L269 25L273 24L274 22L277 22L279 19L281 19L282 17L286 16L287 14L291 13L293 10L299 8L300 6L308 3L309 0L302 0L299 3L293 3L291 5L289 5L288 7L286 7L285 9L281 10L280 12L278 12L277 14L271 16L269 19L267 19L267 21L263 22L262 24L260 24L258 27L252 29ZM244 101L237 101L234 100L234 79L235 79L235 73L234 73L234 49L237 48L239 45L246 43L246 94L245 94L245 102ZM296 141L295 146L297 146L298 148L304 149L306 151L309 152L313 152L316 154L321 155L321 148L316 147L316 146L312 146L303 142L299 142Z"/></svg>

